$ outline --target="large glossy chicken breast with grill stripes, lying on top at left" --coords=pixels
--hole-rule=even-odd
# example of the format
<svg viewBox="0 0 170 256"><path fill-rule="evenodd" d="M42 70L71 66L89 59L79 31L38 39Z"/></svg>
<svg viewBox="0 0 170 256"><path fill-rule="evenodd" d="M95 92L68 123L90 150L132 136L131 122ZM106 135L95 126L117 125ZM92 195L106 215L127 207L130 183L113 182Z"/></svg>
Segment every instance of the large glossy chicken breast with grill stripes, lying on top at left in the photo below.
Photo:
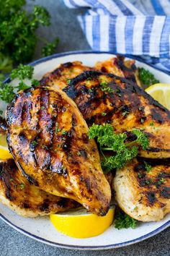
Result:
<svg viewBox="0 0 170 256"><path fill-rule="evenodd" d="M50 88L20 92L6 113L9 150L27 179L53 195L105 215L111 189L94 140L66 93Z"/></svg>

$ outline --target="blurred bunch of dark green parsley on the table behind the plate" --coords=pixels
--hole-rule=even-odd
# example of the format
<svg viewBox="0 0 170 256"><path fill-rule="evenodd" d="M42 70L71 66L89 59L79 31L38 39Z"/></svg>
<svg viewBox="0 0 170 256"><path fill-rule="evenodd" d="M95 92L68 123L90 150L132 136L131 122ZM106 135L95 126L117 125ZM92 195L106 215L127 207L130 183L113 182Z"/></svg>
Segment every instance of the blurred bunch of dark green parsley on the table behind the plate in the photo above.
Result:
<svg viewBox="0 0 170 256"><path fill-rule="evenodd" d="M13 64L32 59L37 45L35 30L50 25L47 9L35 5L30 13L24 10L26 0L0 1L0 80L12 71ZM52 54L58 40L45 46L43 53Z"/></svg>

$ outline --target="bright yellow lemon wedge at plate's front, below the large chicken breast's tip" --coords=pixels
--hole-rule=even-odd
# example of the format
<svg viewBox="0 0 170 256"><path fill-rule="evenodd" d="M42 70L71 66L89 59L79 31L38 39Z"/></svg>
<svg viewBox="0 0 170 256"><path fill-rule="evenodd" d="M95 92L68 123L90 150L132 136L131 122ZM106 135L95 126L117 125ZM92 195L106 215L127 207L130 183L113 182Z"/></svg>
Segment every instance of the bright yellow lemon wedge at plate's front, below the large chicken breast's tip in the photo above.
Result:
<svg viewBox="0 0 170 256"><path fill-rule="evenodd" d="M75 238L99 236L113 222L115 207L109 209L106 216L88 213L86 209L73 210L67 213L50 214L50 221L62 234Z"/></svg>

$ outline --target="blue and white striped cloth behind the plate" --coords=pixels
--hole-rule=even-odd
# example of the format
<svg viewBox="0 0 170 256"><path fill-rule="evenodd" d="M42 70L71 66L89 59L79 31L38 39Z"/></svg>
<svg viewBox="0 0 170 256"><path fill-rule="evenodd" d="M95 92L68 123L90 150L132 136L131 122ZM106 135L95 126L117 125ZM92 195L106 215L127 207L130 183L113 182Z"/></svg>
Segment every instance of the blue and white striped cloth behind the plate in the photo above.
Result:
<svg viewBox="0 0 170 256"><path fill-rule="evenodd" d="M63 0L92 49L140 56L170 72L170 0Z"/></svg>

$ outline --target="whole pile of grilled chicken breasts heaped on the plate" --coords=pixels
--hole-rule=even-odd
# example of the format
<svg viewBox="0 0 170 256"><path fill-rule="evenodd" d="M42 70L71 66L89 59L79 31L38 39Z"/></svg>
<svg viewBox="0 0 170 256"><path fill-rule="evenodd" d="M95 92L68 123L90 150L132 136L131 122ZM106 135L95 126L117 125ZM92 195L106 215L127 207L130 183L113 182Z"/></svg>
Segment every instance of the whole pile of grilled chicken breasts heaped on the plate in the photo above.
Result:
<svg viewBox="0 0 170 256"><path fill-rule="evenodd" d="M102 90L103 81L112 90ZM149 148L104 175L88 137L92 124L111 124L129 140L134 128L142 129ZM83 206L104 216L112 196L138 221L159 221L170 212L170 112L140 87L135 61L61 64L39 86L17 94L0 127L13 156L0 162L0 201L19 215Z"/></svg>

